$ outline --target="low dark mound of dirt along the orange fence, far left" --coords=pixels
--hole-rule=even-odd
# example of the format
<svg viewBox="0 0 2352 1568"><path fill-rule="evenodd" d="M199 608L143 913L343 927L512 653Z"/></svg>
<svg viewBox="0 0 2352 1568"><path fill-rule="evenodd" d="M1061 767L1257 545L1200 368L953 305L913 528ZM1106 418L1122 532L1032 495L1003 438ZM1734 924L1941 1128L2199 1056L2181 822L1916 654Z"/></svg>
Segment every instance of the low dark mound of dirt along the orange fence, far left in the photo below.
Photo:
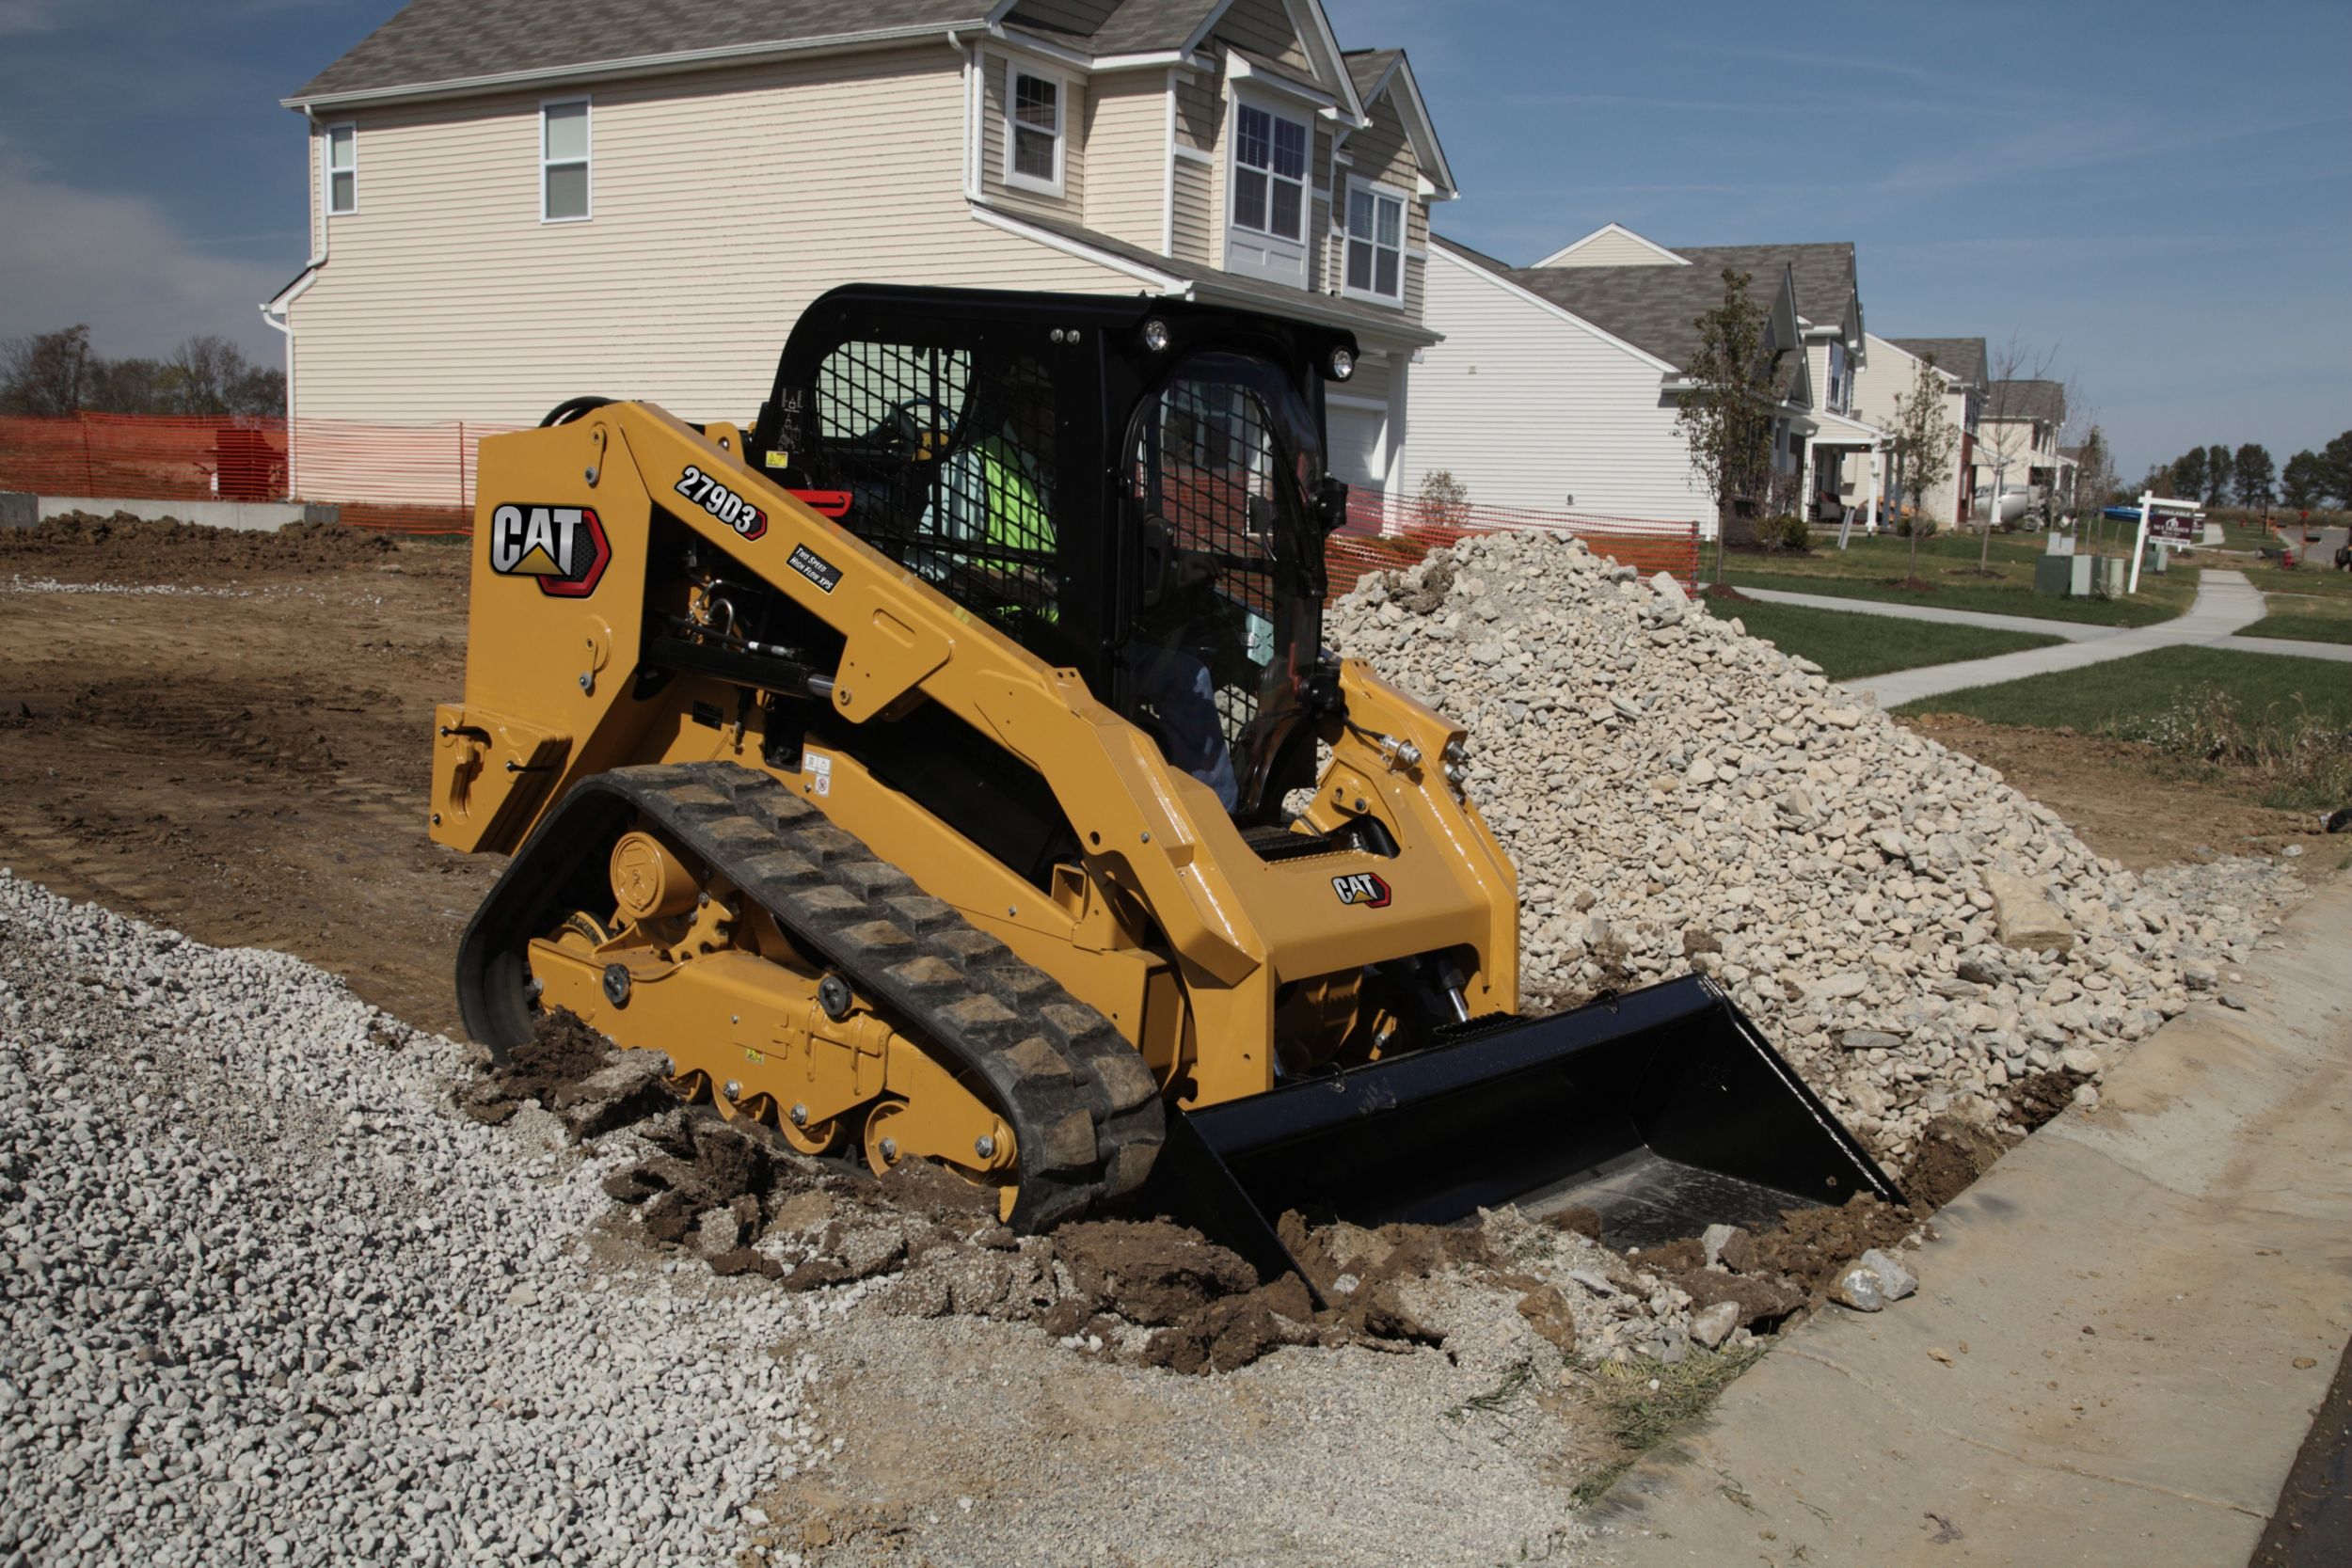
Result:
<svg viewBox="0 0 2352 1568"><path fill-rule="evenodd" d="M176 517L59 512L31 529L0 529L0 569L82 576L322 571L386 562L400 545L339 522L289 522L275 531L214 529Z"/></svg>

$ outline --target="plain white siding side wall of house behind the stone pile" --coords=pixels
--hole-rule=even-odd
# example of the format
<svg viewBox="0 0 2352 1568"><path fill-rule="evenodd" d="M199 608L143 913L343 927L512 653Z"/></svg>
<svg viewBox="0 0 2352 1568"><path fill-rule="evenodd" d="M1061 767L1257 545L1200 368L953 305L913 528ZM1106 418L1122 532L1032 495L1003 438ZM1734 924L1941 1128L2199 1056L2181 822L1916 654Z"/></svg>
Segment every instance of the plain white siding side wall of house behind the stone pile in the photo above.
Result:
<svg viewBox="0 0 2352 1568"><path fill-rule="evenodd" d="M1442 468L1475 505L1712 527L1651 360L1444 249L1430 327L1446 336L1411 367L1399 494Z"/></svg>

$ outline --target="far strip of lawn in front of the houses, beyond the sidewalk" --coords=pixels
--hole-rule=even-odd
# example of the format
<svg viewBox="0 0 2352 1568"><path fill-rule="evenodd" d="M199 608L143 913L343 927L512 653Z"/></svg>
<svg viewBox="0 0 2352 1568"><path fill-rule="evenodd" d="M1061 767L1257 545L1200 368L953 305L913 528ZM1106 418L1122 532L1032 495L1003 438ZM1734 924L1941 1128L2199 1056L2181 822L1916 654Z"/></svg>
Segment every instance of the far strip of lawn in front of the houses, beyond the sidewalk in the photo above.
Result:
<svg viewBox="0 0 2352 1568"><path fill-rule="evenodd" d="M1811 555L1733 555L1726 581L1738 588L1780 588L1818 592L1837 599L1879 599L1886 604L1933 604L1938 609L1973 609L1994 616L2037 616L2042 621L2089 621L2093 625L2154 625L2171 621L2197 597L2197 571L2173 567L2164 576L2143 574L2140 592L2126 599L2056 599L2034 592L2034 562L2042 557L2039 534L1994 536L1992 571L1976 571L1978 541L1969 534L1943 534L1919 541L1919 578L1931 590L1898 588L1910 571L1907 538L1856 538L1837 550L1835 534L1816 534ZM1712 581L1712 564L1700 564L1700 578Z"/></svg>

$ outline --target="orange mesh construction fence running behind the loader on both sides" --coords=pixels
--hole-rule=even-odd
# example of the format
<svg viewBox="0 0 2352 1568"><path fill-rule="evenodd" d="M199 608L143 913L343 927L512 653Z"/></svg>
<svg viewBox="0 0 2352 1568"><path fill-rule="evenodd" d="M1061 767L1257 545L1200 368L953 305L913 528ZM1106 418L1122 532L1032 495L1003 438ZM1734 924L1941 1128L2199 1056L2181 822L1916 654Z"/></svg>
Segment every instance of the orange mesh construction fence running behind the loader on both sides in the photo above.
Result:
<svg viewBox="0 0 2352 1568"><path fill-rule="evenodd" d="M405 534L473 529L475 449L520 425L376 425L336 418L71 414L0 416L0 489L143 501L327 501L343 522ZM1331 592L1411 567L1470 534L1543 531L1595 555L1698 581L1698 524L1501 505L1423 505L1359 491L1324 559Z"/></svg>

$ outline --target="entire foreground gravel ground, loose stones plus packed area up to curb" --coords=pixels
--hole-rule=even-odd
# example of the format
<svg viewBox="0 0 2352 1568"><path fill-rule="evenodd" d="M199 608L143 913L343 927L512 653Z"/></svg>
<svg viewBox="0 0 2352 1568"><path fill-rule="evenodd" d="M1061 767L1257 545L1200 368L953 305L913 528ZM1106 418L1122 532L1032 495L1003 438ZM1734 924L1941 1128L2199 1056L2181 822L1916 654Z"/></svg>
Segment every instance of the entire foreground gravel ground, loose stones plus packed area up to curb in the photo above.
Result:
<svg viewBox="0 0 2352 1568"><path fill-rule="evenodd" d="M1581 1556L1517 1293L1428 1286L1442 1349L1117 1366L649 1251L600 1187L649 1145L480 1126L470 1070L0 872L0 1568Z"/></svg>

